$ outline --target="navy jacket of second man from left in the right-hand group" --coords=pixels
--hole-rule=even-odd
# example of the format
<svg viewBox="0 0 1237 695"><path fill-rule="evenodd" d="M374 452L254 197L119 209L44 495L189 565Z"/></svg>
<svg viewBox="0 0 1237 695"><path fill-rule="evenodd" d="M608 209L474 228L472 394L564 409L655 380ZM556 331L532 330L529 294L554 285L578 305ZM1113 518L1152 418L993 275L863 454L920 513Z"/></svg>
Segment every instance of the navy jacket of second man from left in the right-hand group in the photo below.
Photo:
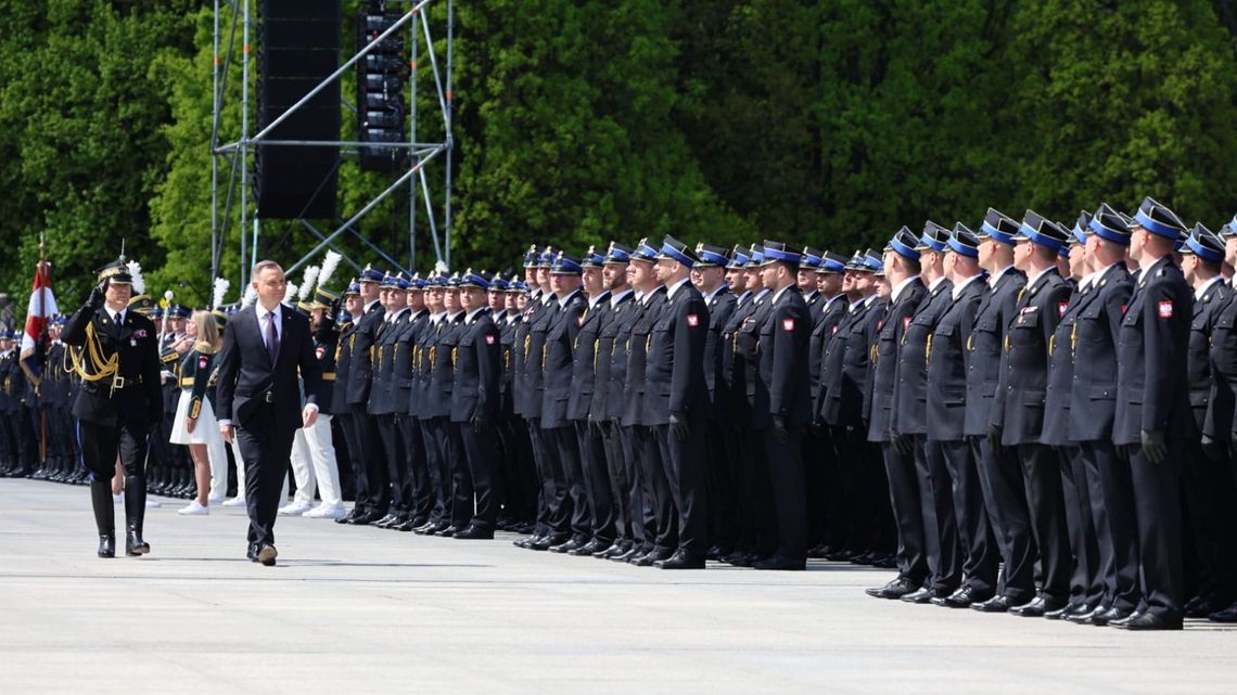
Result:
<svg viewBox="0 0 1237 695"><path fill-rule="evenodd" d="M928 352L936 322L954 302L952 292L952 282L938 281L902 331L892 423L892 429L899 434L928 434Z"/></svg>

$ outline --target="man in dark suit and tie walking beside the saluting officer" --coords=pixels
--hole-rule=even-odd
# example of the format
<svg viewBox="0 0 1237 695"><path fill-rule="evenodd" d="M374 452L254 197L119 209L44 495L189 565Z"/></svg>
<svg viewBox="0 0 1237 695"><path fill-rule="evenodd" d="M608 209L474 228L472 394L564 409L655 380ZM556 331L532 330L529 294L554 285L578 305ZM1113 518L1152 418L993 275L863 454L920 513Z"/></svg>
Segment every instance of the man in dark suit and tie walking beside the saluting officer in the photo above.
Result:
<svg viewBox="0 0 1237 695"><path fill-rule="evenodd" d="M313 427L318 419L322 371L309 320L280 303L287 287L283 268L262 261L251 277L257 302L224 329L216 393L219 430L228 443L236 437L245 459L249 558L270 566L278 555L275 516L292 437L298 427ZM297 417L301 380L306 406Z"/></svg>

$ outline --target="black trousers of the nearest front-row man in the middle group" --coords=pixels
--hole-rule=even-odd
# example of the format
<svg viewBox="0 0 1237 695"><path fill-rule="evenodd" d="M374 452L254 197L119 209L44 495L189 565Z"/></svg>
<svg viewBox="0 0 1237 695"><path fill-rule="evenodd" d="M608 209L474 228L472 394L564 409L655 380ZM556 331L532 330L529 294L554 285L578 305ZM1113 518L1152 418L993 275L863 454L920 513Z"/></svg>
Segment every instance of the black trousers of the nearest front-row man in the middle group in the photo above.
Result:
<svg viewBox="0 0 1237 695"><path fill-rule="evenodd" d="M709 554L709 471L704 461L705 423L696 418L683 439L674 437L670 425L653 430L662 451L674 506L678 529L678 552L691 559Z"/></svg>

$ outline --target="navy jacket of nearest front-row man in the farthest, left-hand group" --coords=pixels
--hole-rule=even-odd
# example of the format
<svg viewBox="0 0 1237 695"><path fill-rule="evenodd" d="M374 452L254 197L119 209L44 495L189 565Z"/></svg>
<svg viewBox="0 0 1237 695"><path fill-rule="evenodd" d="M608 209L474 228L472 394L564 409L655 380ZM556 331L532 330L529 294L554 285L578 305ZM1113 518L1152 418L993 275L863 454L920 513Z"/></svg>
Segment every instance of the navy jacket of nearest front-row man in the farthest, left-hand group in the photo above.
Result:
<svg viewBox="0 0 1237 695"><path fill-rule="evenodd" d="M502 366L499 326L490 309L481 308L459 324L453 360L455 382L452 387L452 422L466 423L480 414L492 423L499 414L499 375Z"/></svg>

